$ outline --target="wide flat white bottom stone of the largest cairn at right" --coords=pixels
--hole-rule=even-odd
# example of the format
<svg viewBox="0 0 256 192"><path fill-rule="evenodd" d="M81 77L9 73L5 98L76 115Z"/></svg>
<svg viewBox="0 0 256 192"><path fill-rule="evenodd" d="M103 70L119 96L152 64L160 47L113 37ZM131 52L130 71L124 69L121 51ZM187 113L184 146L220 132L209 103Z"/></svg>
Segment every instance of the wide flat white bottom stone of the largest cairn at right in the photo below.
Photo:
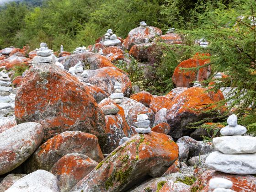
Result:
<svg viewBox="0 0 256 192"><path fill-rule="evenodd" d="M211 153L205 164L213 170L237 175L256 174L256 153L253 154L223 154L219 151Z"/></svg>

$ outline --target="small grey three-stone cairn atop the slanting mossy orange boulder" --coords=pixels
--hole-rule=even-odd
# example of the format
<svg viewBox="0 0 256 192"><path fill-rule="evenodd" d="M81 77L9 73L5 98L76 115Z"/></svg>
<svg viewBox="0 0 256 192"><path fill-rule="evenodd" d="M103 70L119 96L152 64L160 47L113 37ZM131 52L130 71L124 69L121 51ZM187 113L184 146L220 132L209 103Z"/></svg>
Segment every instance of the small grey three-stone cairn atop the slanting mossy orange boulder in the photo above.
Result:
<svg viewBox="0 0 256 192"><path fill-rule="evenodd" d="M151 132L151 128L149 127L149 125L149 116L147 114L140 114L137 117L137 122L135 122L135 131L137 133L149 133Z"/></svg>

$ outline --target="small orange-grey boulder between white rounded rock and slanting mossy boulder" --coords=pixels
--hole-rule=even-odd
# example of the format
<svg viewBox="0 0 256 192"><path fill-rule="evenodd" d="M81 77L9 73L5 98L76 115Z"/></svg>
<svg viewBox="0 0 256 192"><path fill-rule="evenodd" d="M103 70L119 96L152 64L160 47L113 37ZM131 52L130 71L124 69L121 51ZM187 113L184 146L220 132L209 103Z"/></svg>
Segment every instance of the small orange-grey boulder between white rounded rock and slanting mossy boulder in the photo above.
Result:
<svg viewBox="0 0 256 192"><path fill-rule="evenodd" d="M50 170L59 181L61 192L69 192L75 184L83 179L98 163L86 155L71 153L64 155Z"/></svg>

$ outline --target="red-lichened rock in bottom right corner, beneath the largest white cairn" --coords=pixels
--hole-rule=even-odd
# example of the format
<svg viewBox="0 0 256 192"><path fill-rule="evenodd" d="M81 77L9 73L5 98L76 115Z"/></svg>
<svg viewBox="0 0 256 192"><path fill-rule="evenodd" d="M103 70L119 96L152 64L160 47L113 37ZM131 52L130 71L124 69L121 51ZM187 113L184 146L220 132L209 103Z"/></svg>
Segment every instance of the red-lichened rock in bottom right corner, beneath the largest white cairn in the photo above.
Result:
<svg viewBox="0 0 256 192"><path fill-rule="evenodd" d="M232 190L236 192L253 192L256 189L256 177L251 175L231 175L219 171L209 170L205 171L197 178L197 181L190 187L193 192L212 192L209 188L209 181L212 178L221 177L232 181Z"/></svg>

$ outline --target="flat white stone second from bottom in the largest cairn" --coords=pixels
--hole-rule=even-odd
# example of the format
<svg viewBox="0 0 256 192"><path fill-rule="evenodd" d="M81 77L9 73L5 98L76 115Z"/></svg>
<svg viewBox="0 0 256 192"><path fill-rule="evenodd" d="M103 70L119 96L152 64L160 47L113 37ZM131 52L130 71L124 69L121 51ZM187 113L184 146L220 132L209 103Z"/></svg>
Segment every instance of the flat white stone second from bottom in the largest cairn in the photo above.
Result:
<svg viewBox="0 0 256 192"><path fill-rule="evenodd" d="M224 136L213 138L215 149L224 154L256 153L256 137Z"/></svg>

